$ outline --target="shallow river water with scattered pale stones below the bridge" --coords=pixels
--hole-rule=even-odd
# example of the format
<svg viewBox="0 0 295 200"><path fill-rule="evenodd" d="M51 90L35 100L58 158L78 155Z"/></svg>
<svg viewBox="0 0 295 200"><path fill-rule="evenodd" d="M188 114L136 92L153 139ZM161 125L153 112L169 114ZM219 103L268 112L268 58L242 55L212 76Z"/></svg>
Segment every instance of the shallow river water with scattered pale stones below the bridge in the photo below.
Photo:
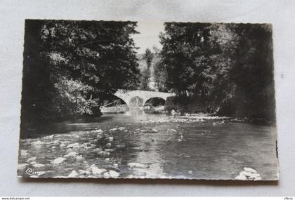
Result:
<svg viewBox="0 0 295 200"><path fill-rule="evenodd" d="M275 126L127 112L49 130L20 139L20 177L277 179Z"/></svg>

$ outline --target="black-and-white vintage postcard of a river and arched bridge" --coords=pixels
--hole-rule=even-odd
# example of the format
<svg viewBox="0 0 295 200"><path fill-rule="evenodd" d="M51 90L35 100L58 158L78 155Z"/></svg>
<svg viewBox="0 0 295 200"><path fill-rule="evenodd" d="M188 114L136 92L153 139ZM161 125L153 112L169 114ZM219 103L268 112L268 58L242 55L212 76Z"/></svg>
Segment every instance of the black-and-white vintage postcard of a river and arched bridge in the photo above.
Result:
<svg viewBox="0 0 295 200"><path fill-rule="evenodd" d="M25 20L18 177L278 180L272 37Z"/></svg>

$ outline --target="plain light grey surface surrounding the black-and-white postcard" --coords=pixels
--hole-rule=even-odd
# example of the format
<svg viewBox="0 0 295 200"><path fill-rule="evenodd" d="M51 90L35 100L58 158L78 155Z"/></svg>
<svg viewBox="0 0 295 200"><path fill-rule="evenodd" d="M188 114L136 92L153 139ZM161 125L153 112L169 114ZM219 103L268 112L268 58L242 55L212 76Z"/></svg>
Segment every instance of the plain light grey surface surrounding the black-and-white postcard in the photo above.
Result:
<svg viewBox="0 0 295 200"><path fill-rule="evenodd" d="M295 1L0 1L0 196L294 196ZM33 180L16 178L25 18L271 22L279 182Z"/></svg>

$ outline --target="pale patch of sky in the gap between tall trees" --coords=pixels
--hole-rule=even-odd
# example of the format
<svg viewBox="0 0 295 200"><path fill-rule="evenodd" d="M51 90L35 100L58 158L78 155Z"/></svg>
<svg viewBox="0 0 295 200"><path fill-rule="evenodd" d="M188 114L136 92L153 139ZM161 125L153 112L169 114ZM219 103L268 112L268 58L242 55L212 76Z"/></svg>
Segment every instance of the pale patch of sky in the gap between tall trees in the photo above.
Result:
<svg viewBox="0 0 295 200"><path fill-rule="evenodd" d="M139 47L139 54L145 53L146 48L152 50L153 46L162 48L159 43L159 32L164 31L164 22L140 21L137 25L136 30L140 32L140 34L133 34L132 38L136 46Z"/></svg>

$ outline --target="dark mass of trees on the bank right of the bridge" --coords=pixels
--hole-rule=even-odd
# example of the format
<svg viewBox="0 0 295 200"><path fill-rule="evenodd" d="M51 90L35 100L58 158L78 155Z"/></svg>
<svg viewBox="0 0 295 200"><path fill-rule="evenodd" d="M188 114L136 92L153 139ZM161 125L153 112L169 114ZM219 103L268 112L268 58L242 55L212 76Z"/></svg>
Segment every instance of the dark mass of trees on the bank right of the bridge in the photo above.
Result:
<svg viewBox="0 0 295 200"><path fill-rule="evenodd" d="M275 119L271 25L166 22L160 41L155 81L177 94L170 108Z"/></svg>

